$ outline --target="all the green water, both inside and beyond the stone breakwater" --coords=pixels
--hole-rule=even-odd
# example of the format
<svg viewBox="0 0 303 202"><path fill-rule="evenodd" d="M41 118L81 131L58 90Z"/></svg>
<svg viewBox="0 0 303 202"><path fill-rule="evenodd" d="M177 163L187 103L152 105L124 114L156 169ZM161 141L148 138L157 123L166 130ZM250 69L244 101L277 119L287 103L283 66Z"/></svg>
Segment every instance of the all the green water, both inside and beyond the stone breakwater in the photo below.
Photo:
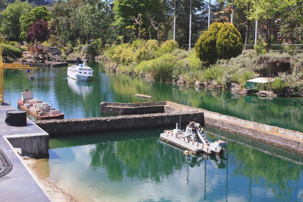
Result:
<svg viewBox="0 0 303 202"><path fill-rule="evenodd" d="M109 116L99 103L170 100L303 132L302 98L261 99L108 73L90 62L94 80L67 78L67 67L5 70L5 99L17 107L21 91L50 102L65 118ZM81 201L303 201L303 156L205 126L211 141L227 141L225 156L185 156L159 140L164 129L53 137L42 175Z"/></svg>

